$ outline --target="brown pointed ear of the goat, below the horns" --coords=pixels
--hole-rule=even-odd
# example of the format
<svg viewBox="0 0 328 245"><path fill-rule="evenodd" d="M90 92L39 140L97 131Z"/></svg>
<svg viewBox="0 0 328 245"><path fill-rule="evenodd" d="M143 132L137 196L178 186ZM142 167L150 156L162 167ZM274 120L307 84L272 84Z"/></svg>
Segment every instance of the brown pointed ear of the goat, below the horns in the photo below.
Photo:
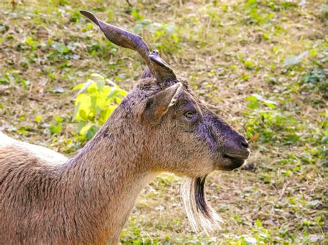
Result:
<svg viewBox="0 0 328 245"><path fill-rule="evenodd" d="M151 124L158 124L162 116L169 110L170 106L176 103L181 92L182 84L176 83L169 88L165 88L147 101L143 118Z"/></svg>

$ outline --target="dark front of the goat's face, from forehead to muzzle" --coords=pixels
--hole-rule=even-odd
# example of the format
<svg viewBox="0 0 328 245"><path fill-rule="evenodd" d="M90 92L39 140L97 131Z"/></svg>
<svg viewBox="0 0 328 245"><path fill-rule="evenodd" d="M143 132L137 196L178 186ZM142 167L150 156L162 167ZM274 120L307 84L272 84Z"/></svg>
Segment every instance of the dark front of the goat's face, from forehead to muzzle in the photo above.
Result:
<svg viewBox="0 0 328 245"><path fill-rule="evenodd" d="M179 133L190 133L190 144L192 139L197 139L206 147L203 154L207 153L212 160L213 170L233 170L244 164L250 153L246 139L206 108L188 88L172 110L176 115L173 122L179 124ZM177 134L177 137L186 135Z"/></svg>

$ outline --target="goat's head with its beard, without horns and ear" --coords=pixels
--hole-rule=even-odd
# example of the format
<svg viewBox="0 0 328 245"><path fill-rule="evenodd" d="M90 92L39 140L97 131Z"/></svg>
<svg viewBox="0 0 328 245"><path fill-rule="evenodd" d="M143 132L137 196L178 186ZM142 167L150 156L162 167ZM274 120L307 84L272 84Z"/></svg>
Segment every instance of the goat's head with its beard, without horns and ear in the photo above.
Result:
<svg viewBox="0 0 328 245"><path fill-rule="evenodd" d="M139 140L135 144L143 144L147 160L156 170L187 176L181 193L188 217L196 231L202 228L209 232L220 218L206 202L206 176L213 170L242 166L249 155L247 141L199 101L182 81L183 87L174 93L174 103L169 103L156 124L138 121L138 115L154 106L154 99L149 98L176 84L166 81L158 86L151 78L145 80L120 105L132 119L132 128L138 128L133 130ZM159 104L162 102L158 100Z"/></svg>

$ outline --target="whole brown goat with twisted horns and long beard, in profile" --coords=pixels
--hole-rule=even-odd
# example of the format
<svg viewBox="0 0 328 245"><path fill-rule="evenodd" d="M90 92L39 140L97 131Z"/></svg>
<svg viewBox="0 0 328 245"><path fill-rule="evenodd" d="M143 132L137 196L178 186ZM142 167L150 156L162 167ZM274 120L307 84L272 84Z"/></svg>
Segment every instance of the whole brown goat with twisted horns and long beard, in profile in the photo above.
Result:
<svg viewBox="0 0 328 245"><path fill-rule="evenodd" d="M187 177L188 217L196 230L208 231L220 219L204 199L206 176L242 166L250 154L246 139L202 104L141 37L81 13L111 42L136 50L147 68L71 159L1 137L7 143L0 148L1 243L117 244L136 197L163 171Z"/></svg>

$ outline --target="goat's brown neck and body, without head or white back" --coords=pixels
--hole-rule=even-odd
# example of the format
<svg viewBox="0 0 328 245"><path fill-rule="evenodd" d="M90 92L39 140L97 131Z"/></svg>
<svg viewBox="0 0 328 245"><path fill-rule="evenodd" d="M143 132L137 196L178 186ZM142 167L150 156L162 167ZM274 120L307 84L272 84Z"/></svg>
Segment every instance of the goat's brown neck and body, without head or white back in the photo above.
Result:
<svg viewBox="0 0 328 245"><path fill-rule="evenodd" d="M143 144L135 144L129 126L123 135L119 130L105 126L59 166L17 148L0 149L0 208L7 209L1 210L0 240L117 244L136 197L156 175L145 169Z"/></svg>

